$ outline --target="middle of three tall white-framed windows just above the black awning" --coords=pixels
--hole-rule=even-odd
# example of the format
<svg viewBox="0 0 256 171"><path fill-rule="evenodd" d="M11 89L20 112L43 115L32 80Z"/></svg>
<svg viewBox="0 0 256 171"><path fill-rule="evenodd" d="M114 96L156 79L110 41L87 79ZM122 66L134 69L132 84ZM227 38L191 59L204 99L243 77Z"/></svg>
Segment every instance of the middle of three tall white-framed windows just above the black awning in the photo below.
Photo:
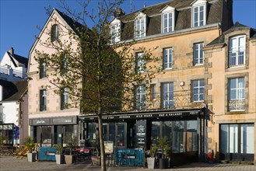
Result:
<svg viewBox="0 0 256 171"><path fill-rule="evenodd" d="M162 97L163 109L174 108L174 83L173 82L163 83L162 93L163 93L163 97Z"/></svg>

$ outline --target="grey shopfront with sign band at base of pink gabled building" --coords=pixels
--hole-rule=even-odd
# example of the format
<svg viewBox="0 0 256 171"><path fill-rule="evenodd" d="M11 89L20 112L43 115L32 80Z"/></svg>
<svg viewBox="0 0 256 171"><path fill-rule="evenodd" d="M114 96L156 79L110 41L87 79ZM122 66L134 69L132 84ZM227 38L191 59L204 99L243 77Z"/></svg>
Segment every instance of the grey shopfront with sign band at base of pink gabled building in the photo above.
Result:
<svg viewBox="0 0 256 171"><path fill-rule="evenodd" d="M66 136L78 136L77 117L49 117L30 119L30 134L40 147L65 145Z"/></svg>

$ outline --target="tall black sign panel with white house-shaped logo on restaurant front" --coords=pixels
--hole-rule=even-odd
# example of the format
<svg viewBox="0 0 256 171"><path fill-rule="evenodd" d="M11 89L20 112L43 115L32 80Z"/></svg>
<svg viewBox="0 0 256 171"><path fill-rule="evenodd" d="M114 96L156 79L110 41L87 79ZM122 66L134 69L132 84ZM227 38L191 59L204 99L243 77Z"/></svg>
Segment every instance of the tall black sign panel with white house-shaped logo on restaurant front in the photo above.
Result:
<svg viewBox="0 0 256 171"><path fill-rule="evenodd" d="M138 148L146 148L146 120L136 121L136 141Z"/></svg>

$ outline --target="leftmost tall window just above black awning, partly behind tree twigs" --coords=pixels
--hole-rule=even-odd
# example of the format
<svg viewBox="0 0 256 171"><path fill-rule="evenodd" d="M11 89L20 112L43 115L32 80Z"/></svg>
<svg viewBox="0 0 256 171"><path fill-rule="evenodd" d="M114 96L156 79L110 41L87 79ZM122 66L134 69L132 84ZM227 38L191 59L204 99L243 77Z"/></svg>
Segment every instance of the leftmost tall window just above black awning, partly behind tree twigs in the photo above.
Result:
<svg viewBox="0 0 256 171"><path fill-rule="evenodd" d="M136 110L146 109L146 87L138 86L136 88Z"/></svg>

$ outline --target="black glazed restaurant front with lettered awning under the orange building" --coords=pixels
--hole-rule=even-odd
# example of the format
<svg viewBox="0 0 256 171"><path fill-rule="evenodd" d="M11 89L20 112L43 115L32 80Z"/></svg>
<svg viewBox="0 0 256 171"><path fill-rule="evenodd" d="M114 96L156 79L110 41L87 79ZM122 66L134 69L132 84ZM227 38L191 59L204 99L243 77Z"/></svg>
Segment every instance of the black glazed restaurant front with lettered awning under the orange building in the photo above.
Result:
<svg viewBox="0 0 256 171"><path fill-rule="evenodd" d="M205 108L108 114L103 116L103 138L113 141L115 148L149 149L158 138L167 137L174 163L202 161L205 159L204 111ZM96 138L96 116L79 116L79 124L80 139Z"/></svg>

